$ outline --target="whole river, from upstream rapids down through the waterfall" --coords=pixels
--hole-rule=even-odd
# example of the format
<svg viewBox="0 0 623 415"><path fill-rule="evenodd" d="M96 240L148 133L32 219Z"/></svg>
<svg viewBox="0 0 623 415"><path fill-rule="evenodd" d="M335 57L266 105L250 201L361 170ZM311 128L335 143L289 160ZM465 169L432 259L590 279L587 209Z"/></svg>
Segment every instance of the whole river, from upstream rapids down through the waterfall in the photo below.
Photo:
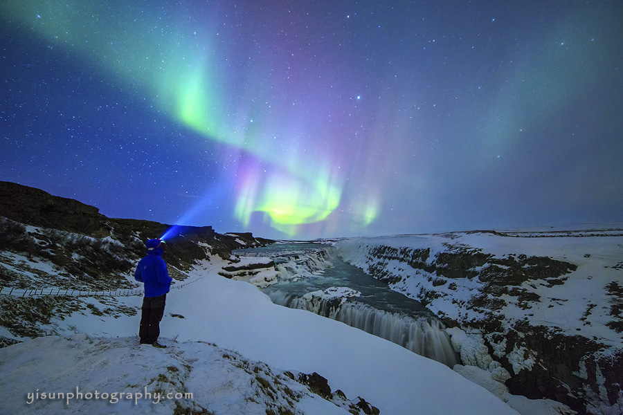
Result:
<svg viewBox="0 0 623 415"><path fill-rule="evenodd" d="M331 246L284 244L235 253L273 259L280 282L263 291L275 304L338 320L449 367L459 363L444 324L426 307L336 258Z"/></svg>

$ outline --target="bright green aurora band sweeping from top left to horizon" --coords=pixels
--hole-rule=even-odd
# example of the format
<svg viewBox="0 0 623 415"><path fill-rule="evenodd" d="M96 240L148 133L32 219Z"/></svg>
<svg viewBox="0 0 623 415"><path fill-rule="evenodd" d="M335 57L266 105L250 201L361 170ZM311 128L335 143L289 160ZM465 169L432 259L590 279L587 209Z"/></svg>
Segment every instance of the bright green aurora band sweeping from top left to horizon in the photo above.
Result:
<svg viewBox="0 0 623 415"><path fill-rule="evenodd" d="M125 10L123 14L111 12L113 8L105 4L9 0L2 2L0 10L5 19L32 30L42 42L84 62L95 62L132 90L138 86L161 112L206 139L256 158L250 169L242 167L254 174L240 172L244 179L237 183L235 215L243 225L249 225L253 212L264 212L273 228L294 235L299 225L323 221L338 208L343 180L328 157L307 160L296 151L278 154L262 131L228 123L231 117L222 105L227 91L218 82L217 51L208 47L215 44L209 38L215 34L201 33L200 42L196 37L191 41L188 33L193 32L186 30L182 17L167 16L170 11L155 4L145 3L142 10L122 2L116 10ZM372 201L360 207L362 225L374 220L374 206Z"/></svg>

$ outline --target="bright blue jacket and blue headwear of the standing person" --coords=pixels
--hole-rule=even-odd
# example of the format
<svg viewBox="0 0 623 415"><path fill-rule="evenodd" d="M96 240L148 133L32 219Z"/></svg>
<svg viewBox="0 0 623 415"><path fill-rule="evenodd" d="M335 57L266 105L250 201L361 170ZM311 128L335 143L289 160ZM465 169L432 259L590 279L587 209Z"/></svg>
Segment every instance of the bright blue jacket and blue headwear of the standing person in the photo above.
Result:
<svg viewBox="0 0 623 415"><path fill-rule="evenodd" d="M160 247L160 239L145 242L147 257L138 261L134 279L145 285L145 297L158 297L169 292L172 278L169 277L167 264L162 259L164 251Z"/></svg>

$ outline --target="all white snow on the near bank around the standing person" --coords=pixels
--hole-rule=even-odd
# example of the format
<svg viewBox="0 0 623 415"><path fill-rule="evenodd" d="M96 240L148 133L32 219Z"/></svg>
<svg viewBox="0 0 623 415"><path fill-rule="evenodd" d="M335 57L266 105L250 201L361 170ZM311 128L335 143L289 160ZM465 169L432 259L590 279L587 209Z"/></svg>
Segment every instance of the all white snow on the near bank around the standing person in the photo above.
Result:
<svg viewBox="0 0 623 415"><path fill-rule="evenodd" d="M132 337L138 331L139 315L80 312L54 320L55 330L87 333L90 340L53 337L0 349L0 393L13 397L3 398L0 412L36 409L35 404L26 403L27 394L36 389L71 391L78 386L84 391L99 387L109 393L115 388L136 392L137 387L148 386L152 378L167 376L167 370L176 371L167 369L175 367L184 371L183 385L195 394L195 404L207 406L215 414L253 413L244 409L244 401L257 385L249 386L252 378L245 380L248 374L244 371L232 374L233 369L228 369L231 363L216 356L229 349L244 360L264 362L277 374L317 372L327 378L332 389L341 389L350 399L365 398L381 414L516 414L489 391L440 363L343 323L276 306L255 286L217 275L216 270L210 270L215 265L197 267L190 273L189 281L194 282L168 295L161 324L161 339L170 345L168 349L138 347ZM119 297L118 301L138 307L141 297ZM210 342L222 349L197 342ZM179 382L171 383L181 387ZM97 412L91 404L93 401L81 403L74 413ZM38 405L46 414L67 409L56 404ZM105 408L107 413L115 413L127 406L109 403ZM295 406L300 414L347 413L336 406L329 411L326 403L311 395ZM154 407L136 405L142 413L151 413ZM170 408L159 410L170 413Z"/></svg>

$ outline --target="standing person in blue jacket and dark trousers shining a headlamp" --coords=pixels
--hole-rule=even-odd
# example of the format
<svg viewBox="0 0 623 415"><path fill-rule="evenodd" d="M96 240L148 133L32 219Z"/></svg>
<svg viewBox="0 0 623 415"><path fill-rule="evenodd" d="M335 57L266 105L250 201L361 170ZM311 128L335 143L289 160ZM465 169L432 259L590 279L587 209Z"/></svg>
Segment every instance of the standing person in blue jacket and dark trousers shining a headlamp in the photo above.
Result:
<svg viewBox="0 0 623 415"><path fill-rule="evenodd" d="M163 243L161 239L150 239L145 242L147 256L138 261L134 271L134 279L145 286L138 337L141 338L141 344L152 344L161 349L166 346L158 342L160 321L164 315L165 300L172 282L167 264L162 259Z"/></svg>

